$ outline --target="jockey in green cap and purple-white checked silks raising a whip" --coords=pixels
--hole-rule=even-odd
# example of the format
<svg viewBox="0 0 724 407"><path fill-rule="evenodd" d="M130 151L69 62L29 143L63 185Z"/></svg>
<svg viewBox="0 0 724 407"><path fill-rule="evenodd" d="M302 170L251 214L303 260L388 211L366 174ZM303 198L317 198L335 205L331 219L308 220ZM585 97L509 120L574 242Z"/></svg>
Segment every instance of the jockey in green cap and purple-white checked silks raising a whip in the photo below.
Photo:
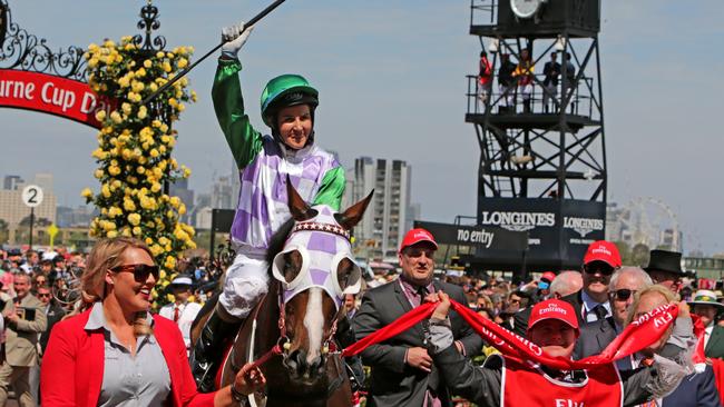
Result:
<svg viewBox="0 0 724 407"><path fill-rule="evenodd" d="M236 258L226 270L223 292L192 353L192 371L200 391L214 388L222 343L268 290L266 249L272 235L291 218L286 179L311 205L339 210L344 169L314 145L314 111L319 93L303 77L283 75L268 81L261 98L264 123L272 136L254 129L244 109L238 51L251 31L244 23L225 28L222 57L212 97L216 118L239 169L238 207L231 236ZM242 32L243 31L243 32Z"/></svg>

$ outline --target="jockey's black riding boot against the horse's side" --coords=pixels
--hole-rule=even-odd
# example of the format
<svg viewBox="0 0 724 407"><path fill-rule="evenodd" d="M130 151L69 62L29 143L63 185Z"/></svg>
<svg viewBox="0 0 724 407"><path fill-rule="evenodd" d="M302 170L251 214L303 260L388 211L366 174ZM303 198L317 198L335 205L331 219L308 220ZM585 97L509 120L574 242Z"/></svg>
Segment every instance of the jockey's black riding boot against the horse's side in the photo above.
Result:
<svg viewBox="0 0 724 407"><path fill-rule="evenodd" d="M224 341L236 334L239 322L227 322L214 309L190 355L192 374L200 393L215 390L214 379L224 353Z"/></svg>

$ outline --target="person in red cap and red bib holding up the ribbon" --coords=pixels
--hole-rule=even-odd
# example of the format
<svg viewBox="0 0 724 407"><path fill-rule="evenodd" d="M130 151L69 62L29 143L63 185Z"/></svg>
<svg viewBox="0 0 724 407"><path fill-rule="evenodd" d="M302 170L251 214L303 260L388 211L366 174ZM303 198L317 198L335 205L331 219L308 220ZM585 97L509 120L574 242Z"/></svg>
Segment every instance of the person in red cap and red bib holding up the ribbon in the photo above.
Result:
<svg viewBox="0 0 724 407"><path fill-rule="evenodd" d="M650 365L628 371L618 371L615 364L564 371L499 355L489 356L482 367L473 366L452 343L449 297L444 292L438 297L429 353L450 390L479 406L634 406L673 391L685 375L684 366L658 355ZM532 308L527 339L548 356L570 359L578 336L570 304L549 299Z"/></svg>

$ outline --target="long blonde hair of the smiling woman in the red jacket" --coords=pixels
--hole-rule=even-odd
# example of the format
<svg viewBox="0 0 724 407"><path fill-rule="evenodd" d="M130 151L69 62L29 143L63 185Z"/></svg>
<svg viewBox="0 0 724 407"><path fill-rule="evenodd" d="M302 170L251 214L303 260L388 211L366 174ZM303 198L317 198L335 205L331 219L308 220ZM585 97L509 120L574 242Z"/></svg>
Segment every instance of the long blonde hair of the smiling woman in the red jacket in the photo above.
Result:
<svg viewBox="0 0 724 407"><path fill-rule="evenodd" d="M118 237L112 239L100 239L96 242L88 260L86 261L86 270L80 277L80 292L82 296L82 309L91 307L97 301L102 301L107 294L108 287L106 286L106 270L114 269L123 264L123 255L129 249L144 250L154 258L153 252L143 241L130 237ZM134 319L134 335L139 337L141 335L151 335L153 328L146 320L146 311L136 312Z"/></svg>

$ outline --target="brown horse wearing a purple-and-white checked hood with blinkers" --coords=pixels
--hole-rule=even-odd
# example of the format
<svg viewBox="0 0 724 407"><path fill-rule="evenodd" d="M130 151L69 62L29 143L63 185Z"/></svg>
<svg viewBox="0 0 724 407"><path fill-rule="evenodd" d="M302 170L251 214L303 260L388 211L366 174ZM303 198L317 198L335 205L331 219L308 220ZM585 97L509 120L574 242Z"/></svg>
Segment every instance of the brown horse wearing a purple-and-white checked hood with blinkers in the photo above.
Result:
<svg viewBox="0 0 724 407"><path fill-rule="evenodd" d="M350 230L362 219L372 193L335 214L327 206L310 207L287 179L292 219L271 239L266 260L272 284L225 356L217 374L221 386L232 384L244 364L262 358L267 385L264 394L250 397L251 405L352 405L350 378L333 337L345 317L344 295L360 289ZM196 327L203 327L203 314ZM192 341L199 332L192 332Z"/></svg>

